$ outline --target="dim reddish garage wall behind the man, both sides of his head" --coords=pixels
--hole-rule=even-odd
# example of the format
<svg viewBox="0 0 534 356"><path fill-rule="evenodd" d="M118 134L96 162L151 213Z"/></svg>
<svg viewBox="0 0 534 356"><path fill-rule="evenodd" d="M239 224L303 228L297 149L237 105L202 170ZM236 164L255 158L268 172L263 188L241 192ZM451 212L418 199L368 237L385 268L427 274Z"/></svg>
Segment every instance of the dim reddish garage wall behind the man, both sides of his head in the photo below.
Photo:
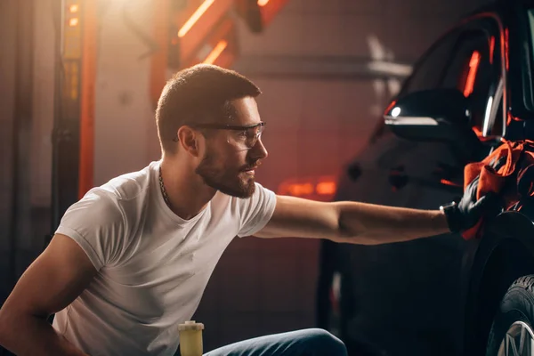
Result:
<svg viewBox="0 0 534 356"><path fill-rule="evenodd" d="M262 35L241 28L236 69L263 89L260 112L269 125L264 142L270 152L258 180L271 190L293 177L336 174L365 144L384 103L398 89L395 78L376 79L360 66L329 73L336 61L411 63L462 13L482 0L290 0ZM34 126L31 202L50 202L50 133L53 118L53 0L36 1ZM2 164L9 167L14 85L12 11L0 2L2 55L0 120ZM147 44L125 25L152 31L149 0L101 1L96 83L95 184L141 169L159 158L153 108L149 101ZM314 70L295 77L297 63L310 58ZM277 61L286 75L266 76ZM301 61L301 62L298 62ZM254 63L254 65L251 65ZM283 69L283 70L282 70ZM5 251L9 220L10 171L0 173L0 252ZM42 214L41 214L42 215ZM44 213L45 215L45 213ZM44 219L45 220L45 219ZM42 228L40 228L42 229ZM34 237L48 231L34 229ZM25 238L23 238L25 239ZM34 239L34 238L31 238ZM37 238L35 238L37 239ZM36 246L28 243L25 248ZM29 246L29 247L28 247ZM214 273L197 318L206 323L206 349L239 339L314 325L317 242L295 239L239 239ZM4 255L5 256L5 255ZM25 265L31 261L26 258ZM4 263L5 258L0 258ZM1 266L0 266L1 267Z"/></svg>

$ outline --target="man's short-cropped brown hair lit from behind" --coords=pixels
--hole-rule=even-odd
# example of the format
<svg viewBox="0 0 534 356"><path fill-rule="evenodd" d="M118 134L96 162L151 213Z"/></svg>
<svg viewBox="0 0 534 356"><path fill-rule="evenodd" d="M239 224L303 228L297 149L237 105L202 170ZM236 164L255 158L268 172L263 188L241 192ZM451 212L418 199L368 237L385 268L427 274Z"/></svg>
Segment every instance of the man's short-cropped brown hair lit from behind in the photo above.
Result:
<svg viewBox="0 0 534 356"><path fill-rule="evenodd" d="M161 150L176 152L174 139L182 125L222 120L231 116L231 101L260 93L252 81L231 69L211 64L182 69L159 97L156 125Z"/></svg>

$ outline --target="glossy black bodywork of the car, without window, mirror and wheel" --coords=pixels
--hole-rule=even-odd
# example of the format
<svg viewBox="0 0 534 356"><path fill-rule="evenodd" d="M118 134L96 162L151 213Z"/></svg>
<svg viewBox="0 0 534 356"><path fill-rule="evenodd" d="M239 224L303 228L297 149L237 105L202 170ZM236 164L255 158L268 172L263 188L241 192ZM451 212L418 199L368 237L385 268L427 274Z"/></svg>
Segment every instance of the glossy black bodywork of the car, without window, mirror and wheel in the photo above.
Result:
<svg viewBox="0 0 534 356"><path fill-rule="evenodd" d="M473 29L487 34L490 42L495 38L490 48L495 51L494 61L500 62L492 71L495 83L488 95L496 98L492 123L501 120L505 129L495 125L496 130L484 132L491 115L473 121L473 130L484 142L481 158L500 144L501 136L534 140L530 74L534 50L525 16L528 7L534 7L534 2L501 1L459 21L417 61L390 109L409 92L417 70L436 45L453 38L455 31L463 34ZM498 85L502 85L502 99ZM463 166L469 159L458 158L450 144L408 142L388 130L378 131L382 134L373 137L348 165L358 166L360 174L340 178L336 200L433 209L461 194L449 183L462 185ZM452 167L452 174L436 173L443 165ZM345 288L352 298L342 336L349 343L365 339L391 354L437 354L439 348L439 354L484 354L496 303L521 273L534 273L532 210L499 215L481 239L465 241L449 234L403 244L336 247L336 269L346 275Z"/></svg>

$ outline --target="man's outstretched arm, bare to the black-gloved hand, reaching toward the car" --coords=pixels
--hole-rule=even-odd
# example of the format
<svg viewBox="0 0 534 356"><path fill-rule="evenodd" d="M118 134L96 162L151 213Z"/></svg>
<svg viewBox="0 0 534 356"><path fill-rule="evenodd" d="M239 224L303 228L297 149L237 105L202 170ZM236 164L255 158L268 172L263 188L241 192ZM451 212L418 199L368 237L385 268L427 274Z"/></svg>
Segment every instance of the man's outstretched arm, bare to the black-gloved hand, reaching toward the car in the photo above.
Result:
<svg viewBox="0 0 534 356"><path fill-rule="evenodd" d="M478 179L465 190L457 206L441 210L418 210L359 202L323 203L278 196L271 221L255 234L259 238L300 237L330 239L361 245L409 241L471 228L486 214L496 214L496 196L476 200Z"/></svg>

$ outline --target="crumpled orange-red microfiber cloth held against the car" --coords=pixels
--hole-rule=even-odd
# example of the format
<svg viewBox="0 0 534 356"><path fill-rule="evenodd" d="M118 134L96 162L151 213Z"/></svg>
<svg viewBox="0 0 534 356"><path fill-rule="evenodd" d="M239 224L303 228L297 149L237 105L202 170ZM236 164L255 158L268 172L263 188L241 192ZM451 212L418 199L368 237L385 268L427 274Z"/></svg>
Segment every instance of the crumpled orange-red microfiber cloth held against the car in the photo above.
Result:
<svg viewBox="0 0 534 356"><path fill-rule="evenodd" d="M499 159L506 159L496 171L492 166ZM493 191L504 198L505 209L518 204L522 198L534 195L534 142L504 141L498 149L481 162L465 166L464 189L480 174L477 199ZM464 231L464 239L480 238L483 219L473 228Z"/></svg>

